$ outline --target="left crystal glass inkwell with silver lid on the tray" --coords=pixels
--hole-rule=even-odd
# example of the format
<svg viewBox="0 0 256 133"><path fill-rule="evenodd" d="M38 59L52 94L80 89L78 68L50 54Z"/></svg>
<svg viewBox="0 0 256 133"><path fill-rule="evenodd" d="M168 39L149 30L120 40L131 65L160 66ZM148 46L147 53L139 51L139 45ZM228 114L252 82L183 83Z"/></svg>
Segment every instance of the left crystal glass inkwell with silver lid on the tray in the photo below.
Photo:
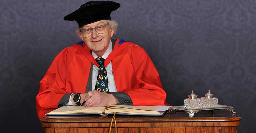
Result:
<svg viewBox="0 0 256 133"><path fill-rule="evenodd" d="M193 90L191 95L188 95L188 99L184 99L184 108L189 108L189 109L202 108L202 103L200 99L197 99L197 95L194 94Z"/></svg>

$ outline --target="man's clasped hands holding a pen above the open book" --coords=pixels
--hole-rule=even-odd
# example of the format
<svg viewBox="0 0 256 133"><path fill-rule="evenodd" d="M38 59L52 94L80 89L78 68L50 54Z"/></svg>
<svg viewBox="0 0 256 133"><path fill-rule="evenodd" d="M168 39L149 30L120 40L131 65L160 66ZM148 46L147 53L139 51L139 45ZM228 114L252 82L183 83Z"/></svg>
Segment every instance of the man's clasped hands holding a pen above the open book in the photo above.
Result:
<svg viewBox="0 0 256 133"><path fill-rule="evenodd" d="M111 104L119 103L118 100L112 95L99 91L89 91L84 99L81 101L84 103L84 107L105 107Z"/></svg>

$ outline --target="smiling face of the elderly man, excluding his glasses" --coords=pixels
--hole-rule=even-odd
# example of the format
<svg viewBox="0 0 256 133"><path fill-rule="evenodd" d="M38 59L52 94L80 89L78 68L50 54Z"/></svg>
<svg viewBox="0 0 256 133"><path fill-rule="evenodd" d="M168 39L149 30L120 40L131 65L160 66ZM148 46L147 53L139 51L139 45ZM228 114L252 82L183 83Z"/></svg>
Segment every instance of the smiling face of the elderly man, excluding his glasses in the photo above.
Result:
<svg viewBox="0 0 256 133"><path fill-rule="evenodd" d="M106 20L97 21L88 25L84 25L83 29L87 28L95 28L96 26L106 25ZM110 38L113 36L114 30L110 28L108 25L106 27L106 32L103 34L98 34L95 29L92 30L92 35L90 37L83 37L81 33L79 33L79 37L84 41L86 46L90 48L97 56L101 57L106 52L109 47Z"/></svg>

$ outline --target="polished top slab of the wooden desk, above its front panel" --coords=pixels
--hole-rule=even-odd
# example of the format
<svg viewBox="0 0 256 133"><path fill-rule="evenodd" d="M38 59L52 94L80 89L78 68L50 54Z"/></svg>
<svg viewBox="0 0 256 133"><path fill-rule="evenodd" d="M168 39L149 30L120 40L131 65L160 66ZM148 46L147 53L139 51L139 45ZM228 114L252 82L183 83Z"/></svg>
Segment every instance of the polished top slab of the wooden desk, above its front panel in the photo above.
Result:
<svg viewBox="0 0 256 133"><path fill-rule="evenodd" d="M49 116L40 119L45 123L76 123L76 122L111 122L113 115L69 115L69 116ZM164 116L132 116L116 115L117 122L231 122L240 121L242 118L231 111L221 109L213 111L200 111L194 117L189 117L183 111L171 111Z"/></svg>

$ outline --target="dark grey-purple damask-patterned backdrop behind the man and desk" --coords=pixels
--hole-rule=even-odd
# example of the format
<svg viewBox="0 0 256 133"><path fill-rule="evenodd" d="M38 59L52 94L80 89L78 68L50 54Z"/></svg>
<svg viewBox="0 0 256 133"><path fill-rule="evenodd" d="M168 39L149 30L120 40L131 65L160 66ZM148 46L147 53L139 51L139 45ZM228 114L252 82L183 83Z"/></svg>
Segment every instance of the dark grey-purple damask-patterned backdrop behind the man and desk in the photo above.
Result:
<svg viewBox="0 0 256 133"><path fill-rule="evenodd" d="M211 89L255 132L255 0L114 0L121 8L116 39L143 47L154 62L166 101L182 105L193 89ZM39 81L54 57L79 42L63 17L84 0L1 0L0 114L4 132L43 132L35 110Z"/></svg>

